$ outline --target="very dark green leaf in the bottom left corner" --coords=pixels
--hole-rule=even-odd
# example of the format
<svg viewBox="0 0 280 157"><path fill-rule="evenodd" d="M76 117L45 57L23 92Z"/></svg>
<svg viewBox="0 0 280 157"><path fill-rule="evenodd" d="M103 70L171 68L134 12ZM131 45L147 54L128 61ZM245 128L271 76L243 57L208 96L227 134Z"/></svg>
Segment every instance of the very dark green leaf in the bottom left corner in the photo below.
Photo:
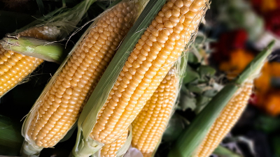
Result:
<svg viewBox="0 0 280 157"><path fill-rule="evenodd" d="M18 156L22 147L23 137L21 125L8 117L0 115L0 154Z"/></svg>

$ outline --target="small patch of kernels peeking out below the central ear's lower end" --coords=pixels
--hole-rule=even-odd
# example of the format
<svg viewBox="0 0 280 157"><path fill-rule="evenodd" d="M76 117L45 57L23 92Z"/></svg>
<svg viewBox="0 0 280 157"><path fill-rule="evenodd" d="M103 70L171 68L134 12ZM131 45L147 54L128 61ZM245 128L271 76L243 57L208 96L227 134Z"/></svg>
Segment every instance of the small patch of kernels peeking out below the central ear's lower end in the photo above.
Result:
<svg viewBox="0 0 280 157"><path fill-rule="evenodd" d="M127 140L127 133L128 129L125 130L116 141L111 144L105 144L101 149L100 157L116 157L118 149L120 149Z"/></svg>

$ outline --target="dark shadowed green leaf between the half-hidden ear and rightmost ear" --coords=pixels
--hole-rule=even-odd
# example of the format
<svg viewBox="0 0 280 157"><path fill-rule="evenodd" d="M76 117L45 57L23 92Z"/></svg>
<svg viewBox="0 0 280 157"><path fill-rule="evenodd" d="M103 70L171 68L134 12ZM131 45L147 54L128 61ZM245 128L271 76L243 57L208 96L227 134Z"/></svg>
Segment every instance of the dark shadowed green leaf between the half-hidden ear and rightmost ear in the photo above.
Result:
<svg viewBox="0 0 280 157"><path fill-rule="evenodd" d="M165 130L165 133L162 136L162 140L164 142L172 142L176 140L180 133L188 126L189 122L184 117L181 117L180 114L177 114L176 112L172 116L172 118L169 120L167 129Z"/></svg>

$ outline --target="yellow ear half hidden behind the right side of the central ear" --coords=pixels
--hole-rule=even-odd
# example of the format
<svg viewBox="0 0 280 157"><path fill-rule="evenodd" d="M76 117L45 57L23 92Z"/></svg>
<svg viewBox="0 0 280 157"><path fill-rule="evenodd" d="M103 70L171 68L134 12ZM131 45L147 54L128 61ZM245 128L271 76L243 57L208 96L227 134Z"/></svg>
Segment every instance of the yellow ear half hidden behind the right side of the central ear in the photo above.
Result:
<svg viewBox="0 0 280 157"><path fill-rule="evenodd" d="M171 70L174 72L174 70ZM178 78L168 73L132 122L132 146L149 157L165 131L176 100Z"/></svg>

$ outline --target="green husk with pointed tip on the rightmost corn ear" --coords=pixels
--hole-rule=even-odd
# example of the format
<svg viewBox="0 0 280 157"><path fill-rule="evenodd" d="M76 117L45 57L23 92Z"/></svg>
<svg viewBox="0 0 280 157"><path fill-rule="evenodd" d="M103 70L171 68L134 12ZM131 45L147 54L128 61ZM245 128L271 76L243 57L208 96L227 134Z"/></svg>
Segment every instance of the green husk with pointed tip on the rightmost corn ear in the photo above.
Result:
<svg viewBox="0 0 280 157"><path fill-rule="evenodd" d="M231 84L225 85L225 87L212 98L207 107L195 117L195 120L190 124L189 128L183 130L183 133L169 152L169 157L195 156L197 149L200 147L210 127L214 124L225 105L228 104L230 98L234 96L237 89L239 89L243 82L246 80L253 80L260 73L260 69L267 56L271 53L273 45L274 41L269 43L267 48L260 52L260 54L248 64L246 69L236 80Z"/></svg>

